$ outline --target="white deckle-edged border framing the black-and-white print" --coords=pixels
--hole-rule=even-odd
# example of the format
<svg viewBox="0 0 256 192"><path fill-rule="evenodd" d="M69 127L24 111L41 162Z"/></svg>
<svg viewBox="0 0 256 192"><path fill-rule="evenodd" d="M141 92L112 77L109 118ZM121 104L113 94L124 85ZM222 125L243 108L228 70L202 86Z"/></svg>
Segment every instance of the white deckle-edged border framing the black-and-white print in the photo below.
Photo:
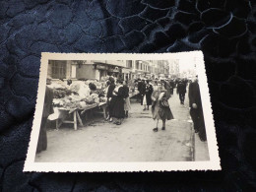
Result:
<svg viewBox="0 0 256 192"><path fill-rule="evenodd" d="M207 161L140 161L140 162L34 162L42 107L45 95L48 60L164 60L179 57L198 58L197 73L206 124L210 160ZM209 95L208 81L202 51L178 53L41 53L40 76L36 108L33 116L30 146L24 171L38 172L134 172L221 170L215 122Z"/></svg>

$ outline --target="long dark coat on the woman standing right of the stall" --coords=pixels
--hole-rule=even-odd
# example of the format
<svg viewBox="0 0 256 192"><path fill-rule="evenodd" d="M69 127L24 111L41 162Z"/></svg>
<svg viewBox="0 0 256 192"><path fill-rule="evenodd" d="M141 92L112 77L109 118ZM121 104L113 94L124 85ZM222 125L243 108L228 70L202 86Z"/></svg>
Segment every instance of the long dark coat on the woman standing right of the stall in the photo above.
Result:
<svg viewBox="0 0 256 192"><path fill-rule="evenodd" d="M116 96L113 95L111 99L112 103L112 113L111 116L115 118L124 118L125 113L124 113L124 100L125 100L125 90L121 86L118 88L118 91L113 91Z"/></svg>

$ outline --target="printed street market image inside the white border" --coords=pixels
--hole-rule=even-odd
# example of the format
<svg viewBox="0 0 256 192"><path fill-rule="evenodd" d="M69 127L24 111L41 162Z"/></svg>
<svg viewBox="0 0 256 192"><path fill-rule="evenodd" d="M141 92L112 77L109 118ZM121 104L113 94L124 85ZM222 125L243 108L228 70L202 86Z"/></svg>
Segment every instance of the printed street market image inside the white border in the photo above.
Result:
<svg viewBox="0 0 256 192"><path fill-rule="evenodd" d="M196 58L48 61L36 162L200 160Z"/></svg>

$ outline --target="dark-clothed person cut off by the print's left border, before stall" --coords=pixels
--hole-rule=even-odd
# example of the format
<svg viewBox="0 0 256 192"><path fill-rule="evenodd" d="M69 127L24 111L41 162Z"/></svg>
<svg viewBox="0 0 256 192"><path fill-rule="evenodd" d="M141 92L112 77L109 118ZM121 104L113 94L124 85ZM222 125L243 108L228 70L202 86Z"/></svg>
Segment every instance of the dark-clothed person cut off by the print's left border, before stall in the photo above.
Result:
<svg viewBox="0 0 256 192"><path fill-rule="evenodd" d="M47 118L48 116L53 113L52 107L52 100L53 100L53 91L47 87L47 85L51 84L51 79L47 78L46 80L46 90L43 102L43 110L42 110L42 117L41 117L41 125L40 125L40 132L37 142L36 153L40 153L41 151L45 151L47 149Z"/></svg>

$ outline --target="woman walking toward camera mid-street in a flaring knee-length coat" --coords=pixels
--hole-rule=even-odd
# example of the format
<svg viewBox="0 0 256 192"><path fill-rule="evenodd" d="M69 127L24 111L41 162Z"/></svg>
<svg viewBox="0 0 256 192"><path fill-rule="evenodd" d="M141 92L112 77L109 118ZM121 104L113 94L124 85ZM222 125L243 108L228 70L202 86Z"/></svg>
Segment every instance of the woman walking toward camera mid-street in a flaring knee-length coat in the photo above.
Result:
<svg viewBox="0 0 256 192"><path fill-rule="evenodd" d="M158 84L158 90L154 91L152 94L152 114L153 119L157 120L157 127L153 129L153 131L159 131L159 120L162 121L162 128L161 130L165 130L165 121L173 119L172 112L169 108L168 104L168 94L164 89L163 84Z"/></svg>

